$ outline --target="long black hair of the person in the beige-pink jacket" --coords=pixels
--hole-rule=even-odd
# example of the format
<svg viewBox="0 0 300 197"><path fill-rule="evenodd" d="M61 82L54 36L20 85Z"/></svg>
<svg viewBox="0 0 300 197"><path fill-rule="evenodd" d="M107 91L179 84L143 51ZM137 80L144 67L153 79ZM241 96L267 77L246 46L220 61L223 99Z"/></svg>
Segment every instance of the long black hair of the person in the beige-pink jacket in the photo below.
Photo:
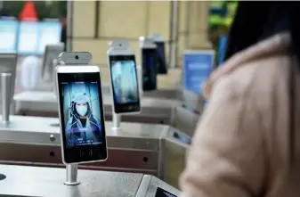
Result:
<svg viewBox="0 0 300 197"><path fill-rule="evenodd" d="M292 53L300 60L300 2L239 1L228 37L225 60L250 45L288 31Z"/></svg>

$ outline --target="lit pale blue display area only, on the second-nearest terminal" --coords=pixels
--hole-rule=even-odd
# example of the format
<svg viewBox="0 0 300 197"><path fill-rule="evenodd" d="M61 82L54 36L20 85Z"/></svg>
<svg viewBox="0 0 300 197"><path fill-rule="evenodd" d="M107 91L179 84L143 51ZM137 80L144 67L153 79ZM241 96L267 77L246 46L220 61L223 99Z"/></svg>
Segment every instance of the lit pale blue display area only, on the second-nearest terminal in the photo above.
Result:
<svg viewBox="0 0 300 197"><path fill-rule="evenodd" d="M136 103L139 99L135 62L131 60L111 63L114 99L117 104Z"/></svg>

